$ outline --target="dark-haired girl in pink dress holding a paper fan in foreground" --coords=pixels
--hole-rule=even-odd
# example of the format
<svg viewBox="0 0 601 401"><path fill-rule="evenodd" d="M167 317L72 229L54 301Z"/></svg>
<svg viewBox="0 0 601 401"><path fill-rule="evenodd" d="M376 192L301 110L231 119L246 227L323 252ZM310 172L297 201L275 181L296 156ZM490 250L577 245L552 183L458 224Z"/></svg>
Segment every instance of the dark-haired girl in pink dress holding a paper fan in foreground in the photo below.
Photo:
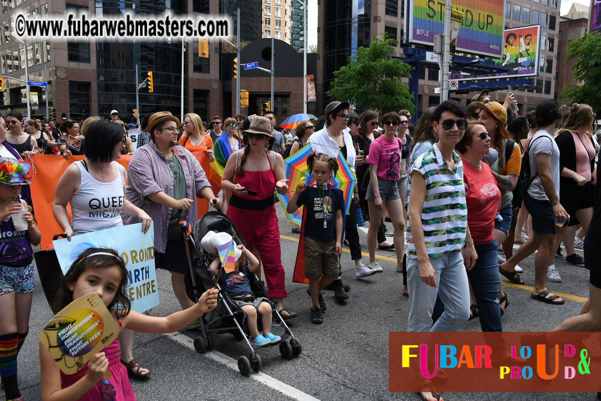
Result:
<svg viewBox="0 0 601 401"><path fill-rule="evenodd" d="M207 290L198 304L173 313L167 317L146 316L130 310L126 295L127 269L117 251L89 248L79 255L63 282L62 294L58 296L59 307L88 293L94 292L111 311L118 331L124 328L150 333L174 332L189 322L212 310L217 305L219 290ZM117 309L117 306L123 309ZM119 361L119 340L115 338L103 352L90 358L79 372L64 375L50 352L40 343L40 391L43 401L100 401L105 399L135 401L127 371ZM108 381L102 377L106 370L112 373ZM108 398L106 398L108 396Z"/></svg>

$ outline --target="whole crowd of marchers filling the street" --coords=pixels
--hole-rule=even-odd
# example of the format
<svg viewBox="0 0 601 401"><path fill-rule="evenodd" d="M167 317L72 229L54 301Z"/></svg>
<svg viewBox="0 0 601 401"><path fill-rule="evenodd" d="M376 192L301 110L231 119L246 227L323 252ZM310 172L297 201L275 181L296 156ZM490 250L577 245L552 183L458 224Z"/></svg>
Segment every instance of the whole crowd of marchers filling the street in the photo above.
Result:
<svg viewBox="0 0 601 401"><path fill-rule="evenodd" d="M524 284L518 263L534 251L531 298L564 303L546 287L546 280L561 281L554 258L563 242L566 262L590 270L590 299L580 316L556 329L598 331L601 261L596 253L585 252L583 259L574 250L575 240L582 241L586 250L601 239L593 110L572 105L562 114L558 103L549 99L522 117L508 111L513 103L513 95L501 104L491 102L483 91L467 108L446 100L427 109L413 127L407 110L367 110L358 115L348 102L332 102L323 117L299 123L295 135L276 129L272 111L225 119L215 115L208 125L195 113L180 122L170 112L159 111L142 117L135 141L127 131L138 127L124 124L116 110L111 120L90 117L81 123L23 121L18 112L0 117L0 231L2 238L10 238L3 243L8 251L0 255L0 366L5 367L0 374L6 399L22 400L16 361L28 334L31 245L40 242L28 191L31 167L23 159L37 153L85 155L69 165L56 186L53 215L68 239L136 222L145 232L154 223L156 268L170 272L174 294L185 311L172 315L177 319L163 321L129 312L127 302L119 303L124 310L117 309L114 302L122 301L127 276L123 260L111 249L82 254L66 275L63 303L97 287L105 286L98 291L106 292L110 284L113 293L103 302L114 308L119 340L106 355L97 354L77 377L59 375L49 355L40 352L44 400L102 399L96 382L106 366L124 378L118 389L123 399L135 399L127 373L145 377L150 370L133 358L133 331L127 328L153 332L196 328L201 313L215 307L215 292L205 293L198 304L186 293L186 248L178 210L188 212L191 224L209 205L222 210L248 247L240 248L239 256L251 262L252 271L261 266L276 310L283 319L297 317L284 307L287 290L274 192L292 194L288 213L301 206L307 210L304 226L293 225L292 231L303 235L314 324L323 323L327 307L323 290L334 290L336 301L349 298L349 286L341 280L342 247L350 248L355 277L362 279L383 272L376 259L377 245L380 251L395 253L396 271L403 274L403 295L409 297L408 331L457 331L472 317L480 319L483 331L502 331L501 316L509 299L501 275ZM312 149L307 165L314 178L289 182L284 159L307 144ZM122 154L132 155L127 168L116 162ZM356 175L348 214L343 212L343 192L328 183L341 168L339 155ZM207 177L214 163L222 168L221 193ZM91 199L98 197L117 199L118 213L111 218L92 213ZM11 216L22 209L28 229L17 230ZM362 262L359 242L360 214L369 221L367 263ZM386 222L391 225L386 227ZM8 231L14 234L5 236ZM515 243L521 245L514 253ZM499 249L505 257L499 256ZM86 277L98 269L108 270L96 272L101 278L91 283ZM266 313L260 301L255 307L256 313L246 308L254 321ZM256 328L251 331L257 345L279 341L269 329L264 328L263 335ZM434 392L420 396L438 399Z"/></svg>

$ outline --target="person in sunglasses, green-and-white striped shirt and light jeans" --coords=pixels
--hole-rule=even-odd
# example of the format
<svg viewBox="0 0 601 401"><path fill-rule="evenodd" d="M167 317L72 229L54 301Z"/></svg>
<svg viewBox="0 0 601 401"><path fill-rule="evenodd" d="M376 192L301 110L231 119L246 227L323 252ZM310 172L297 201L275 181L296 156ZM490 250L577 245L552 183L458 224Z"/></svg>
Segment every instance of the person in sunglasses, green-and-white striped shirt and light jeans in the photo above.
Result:
<svg viewBox="0 0 601 401"><path fill-rule="evenodd" d="M457 331L469 319L466 268L477 258L469 236L461 158L454 146L468 126L465 109L445 100L433 115L439 141L416 159L409 178L408 331ZM436 296L445 305L432 324Z"/></svg>

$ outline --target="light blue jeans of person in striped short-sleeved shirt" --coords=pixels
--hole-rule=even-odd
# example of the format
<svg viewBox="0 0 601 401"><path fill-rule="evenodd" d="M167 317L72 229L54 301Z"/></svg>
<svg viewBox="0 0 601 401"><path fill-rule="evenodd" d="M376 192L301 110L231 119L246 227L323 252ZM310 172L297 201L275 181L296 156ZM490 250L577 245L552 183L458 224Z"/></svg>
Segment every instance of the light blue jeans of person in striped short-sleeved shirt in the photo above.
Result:
<svg viewBox="0 0 601 401"><path fill-rule="evenodd" d="M457 331L469 319L468 275L460 251L430 259L436 274L436 288L421 281L417 259L407 257L409 322L407 331ZM436 296L445 310L432 324Z"/></svg>

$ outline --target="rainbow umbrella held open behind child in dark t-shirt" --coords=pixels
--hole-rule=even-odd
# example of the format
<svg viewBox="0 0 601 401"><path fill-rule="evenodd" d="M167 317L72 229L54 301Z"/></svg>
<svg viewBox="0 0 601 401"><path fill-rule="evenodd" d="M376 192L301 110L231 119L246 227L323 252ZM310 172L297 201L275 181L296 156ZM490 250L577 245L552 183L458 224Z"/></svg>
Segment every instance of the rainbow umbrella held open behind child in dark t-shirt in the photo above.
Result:
<svg viewBox="0 0 601 401"><path fill-rule="evenodd" d="M313 179L313 173L309 174L309 167L307 166L307 157L311 152L313 152L313 148L311 148L311 144L309 143L299 149L294 155L284 159L289 189L284 195L280 195L276 192L282 207L284 207L284 212L286 213L286 216L288 216L288 220L296 224L301 224L302 222L302 207L291 214L286 212L286 207L294 194L297 183L299 183L302 177L305 177L307 185L316 185L315 180ZM355 190L356 181L355 173L350 170L349 164L344 159L342 153L338 152L338 173L335 176L332 176L330 184L343 192L344 212L346 214L349 213L350 203L353 201L353 191Z"/></svg>

